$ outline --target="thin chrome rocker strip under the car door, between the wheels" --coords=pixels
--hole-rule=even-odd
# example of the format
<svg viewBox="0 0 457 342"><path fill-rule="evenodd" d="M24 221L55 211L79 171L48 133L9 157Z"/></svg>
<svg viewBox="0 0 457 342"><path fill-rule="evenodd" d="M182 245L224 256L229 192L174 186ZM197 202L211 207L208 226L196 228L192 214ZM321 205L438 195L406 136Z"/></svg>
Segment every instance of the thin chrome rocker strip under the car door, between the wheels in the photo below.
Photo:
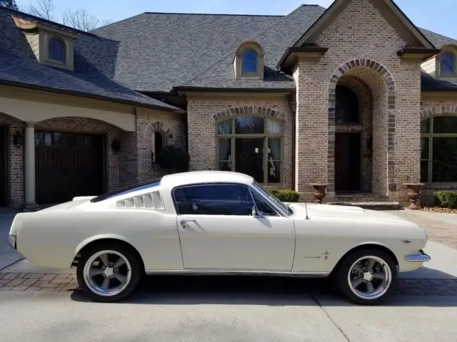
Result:
<svg viewBox="0 0 457 342"><path fill-rule="evenodd" d="M146 274L156 275L189 275L189 276L290 276L290 277L325 277L330 272L293 272L293 271L251 271L251 270L221 270L221 269L166 269L146 271Z"/></svg>

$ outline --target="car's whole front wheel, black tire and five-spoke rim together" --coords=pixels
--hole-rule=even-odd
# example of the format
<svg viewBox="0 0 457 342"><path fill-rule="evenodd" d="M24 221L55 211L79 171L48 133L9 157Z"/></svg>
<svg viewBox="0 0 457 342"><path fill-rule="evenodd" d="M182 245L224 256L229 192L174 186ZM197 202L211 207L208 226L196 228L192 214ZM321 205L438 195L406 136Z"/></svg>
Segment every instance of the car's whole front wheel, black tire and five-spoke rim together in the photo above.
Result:
<svg viewBox="0 0 457 342"><path fill-rule="evenodd" d="M338 286L355 304L380 304L393 293L398 271L392 257L381 249L354 252L338 269Z"/></svg>

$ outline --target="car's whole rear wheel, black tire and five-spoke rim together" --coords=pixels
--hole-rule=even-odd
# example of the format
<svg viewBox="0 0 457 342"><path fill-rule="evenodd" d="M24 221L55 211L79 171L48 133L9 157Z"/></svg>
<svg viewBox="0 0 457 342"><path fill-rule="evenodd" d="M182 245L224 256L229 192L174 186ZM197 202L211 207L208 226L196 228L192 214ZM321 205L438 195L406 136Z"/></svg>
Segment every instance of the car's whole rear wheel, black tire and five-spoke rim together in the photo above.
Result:
<svg viewBox="0 0 457 342"><path fill-rule="evenodd" d="M76 276L81 290L94 301L120 301L141 279L141 260L124 244L96 244L81 255Z"/></svg>

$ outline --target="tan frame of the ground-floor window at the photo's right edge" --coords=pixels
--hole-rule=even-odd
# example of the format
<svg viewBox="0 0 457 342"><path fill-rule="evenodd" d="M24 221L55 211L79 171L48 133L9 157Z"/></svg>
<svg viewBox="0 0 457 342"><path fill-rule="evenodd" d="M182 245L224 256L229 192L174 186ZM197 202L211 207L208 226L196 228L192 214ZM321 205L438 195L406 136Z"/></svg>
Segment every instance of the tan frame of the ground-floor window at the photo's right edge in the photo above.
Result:
<svg viewBox="0 0 457 342"><path fill-rule="evenodd" d="M428 163L428 172L427 172L427 177L428 180L421 182L426 185L426 187L430 188L443 188L443 189L450 189L450 188L455 188L457 187L457 180L455 182L433 182L433 138L456 138L457 139L457 132L456 133L433 133L433 126L434 126L434 118L438 117L454 117L457 118L457 115L453 113L443 113L440 115L433 115L431 117L425 118L421 120L421 123L426 120L430 120L429 123L429 129L428 133L422 133L421 132L421 140L423 138L428 139L428 159L420 159L420 164L422 162L427 162ZM420 167L420 165L419 165Z"/></svg>

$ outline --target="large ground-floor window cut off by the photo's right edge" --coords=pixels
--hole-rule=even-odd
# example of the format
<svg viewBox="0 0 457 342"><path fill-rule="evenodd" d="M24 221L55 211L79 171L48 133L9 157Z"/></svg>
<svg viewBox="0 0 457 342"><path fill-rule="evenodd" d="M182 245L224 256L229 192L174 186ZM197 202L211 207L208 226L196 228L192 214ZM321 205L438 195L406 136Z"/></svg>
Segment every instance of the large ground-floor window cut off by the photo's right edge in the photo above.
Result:
<svg viewBox="0 0 457 342"><path fill-rule="evenodd" d="M421 122L421 182L457 182L457 115Z"/></svg>

